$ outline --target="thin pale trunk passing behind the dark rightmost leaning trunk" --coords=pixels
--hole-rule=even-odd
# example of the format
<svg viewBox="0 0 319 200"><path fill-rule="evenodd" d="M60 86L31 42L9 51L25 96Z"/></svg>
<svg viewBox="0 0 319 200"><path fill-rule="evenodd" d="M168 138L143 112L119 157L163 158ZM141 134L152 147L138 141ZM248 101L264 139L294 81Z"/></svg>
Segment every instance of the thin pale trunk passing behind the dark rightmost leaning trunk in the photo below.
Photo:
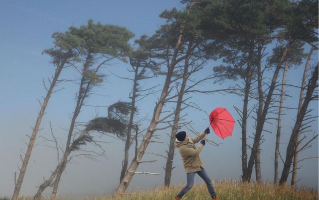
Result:
<svg viewBox="0 0 319 200"><path fill-rule="evenodd" d="M300 89L300 95L299 95L299 104L298 104L298 112L300 111L302 105L303 105L303 97L304 97L304 89L306 87L306 78L307 78L307 71L308 71L308 67L310 64L310 59L311 56L313 55L314 52L314 47L311 48L308 57L307 57L307 61L306 61L306 65L305 65L305 70L304 70L304 75L303 75L303 80L302 80L302 84L301 84L301 89ZM295 185L296 181L297 181L297 168L298 168L298 150L299 150L299 135L300 133L297 134L296 137L296 153L294 155L294 164L293 164L293 175L292 175L292 179L291 179L291 185Z"/></svg>

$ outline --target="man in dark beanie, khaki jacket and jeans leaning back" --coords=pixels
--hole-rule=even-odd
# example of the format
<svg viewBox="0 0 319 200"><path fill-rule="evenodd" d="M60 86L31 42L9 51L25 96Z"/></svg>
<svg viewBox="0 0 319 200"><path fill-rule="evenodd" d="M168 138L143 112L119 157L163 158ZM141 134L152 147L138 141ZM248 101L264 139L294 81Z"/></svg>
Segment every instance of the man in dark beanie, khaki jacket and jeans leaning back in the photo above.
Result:
<svg viewBox="0 0 319 200"><path fill-rule="evenodd" d="M185 193L192 188L194 185L195 174L198 174L205 181L208 192L212 199L218 200L213 188L213 184L211 183L211 180L204 169L204 164L199 157L199 153L205 145L206 134L209 133L209 128L207 128L203 133L193 138L189 138L187 133L184 131L175 134L176 139L174 145L179 150L187 178L186 186L176 195L175 200L180 200ZM194 143L197 143L198 141L200 141L200 144L196 148Z"/></svg>

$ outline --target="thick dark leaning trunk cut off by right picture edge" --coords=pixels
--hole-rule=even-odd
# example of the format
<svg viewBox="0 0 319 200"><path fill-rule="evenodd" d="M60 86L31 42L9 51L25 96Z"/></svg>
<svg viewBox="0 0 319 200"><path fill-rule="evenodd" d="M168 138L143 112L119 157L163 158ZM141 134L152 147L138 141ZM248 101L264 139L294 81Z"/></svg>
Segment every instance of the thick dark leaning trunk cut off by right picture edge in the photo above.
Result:
<svg viewBox="0 0 319 200"><path fill-rule="evenodd" d="M318 63L317 63L316 69L314 70L314 72L312 74L311 79L309 80L304 103L303 103L300 111L297 114L297 120L296 120L294 129L293 129L291 136L290 136L290 140L289 140L289 143L287 146L284 169L283 169L283 172L281 174L280 181L279 181L280 185L284 185L287 182L291 163L293 161L294 155L296 154L296 143L298 142L297 135L298 135L300 128L302 126L305 114L306 114L307 109L308 109L309 102L312 100L314 90L317 87L317 81L318 81Z"/></svg>

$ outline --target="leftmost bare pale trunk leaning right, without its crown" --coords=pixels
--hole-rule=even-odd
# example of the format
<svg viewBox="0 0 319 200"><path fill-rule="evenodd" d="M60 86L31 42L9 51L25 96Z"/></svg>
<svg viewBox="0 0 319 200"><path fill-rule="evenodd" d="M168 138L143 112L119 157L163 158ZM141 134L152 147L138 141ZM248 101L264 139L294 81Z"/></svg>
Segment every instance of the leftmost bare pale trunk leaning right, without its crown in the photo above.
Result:
<svg viewBox="0 0 319 200"><path fill-rule="evenodd" d="M12 200L17 200L18 199L19 192L20 192L21 185L22 185L23 178L24 178L24 174L25 174L25 171L26 171L26 167L27 167L29 159L30 159L30 155L31 155L31 152L32 152L32 148L33 148L33 145L34 145L36 134L39 131L39 127L40 127L41 120L42 120L42 117L43 117L44 112L45 112L45 108L46 108L46 106L47 106L47 104L49 102L49 99L50 99L50 97L52 95L52 92L53 92L53 88L55 87L55 85L57 83L58 77L61 74L61 71L62 71L62 69L63 69L63 67L64 67L64 65L65 65L65 63L66 63L66 61L68 59L68 55L69 54L70 54L70 51L65 55L65 58L62 60L61 64L58 65L56 67L56 69L55 69L55 73L54 73L53 79L51 81L50 87L47 90L47 93L46 93L46 96L45 96L45 98L43 100L40 112L39 112L38 117L36 119L35 126L33 128L33 132L32 132L32 135L30 137L29 144L28 144L28 148L26 150L24 159L22 161L22 167L20 168L19 177L18 177L17 181L15 182L15 187L14 187L14 192L13 192L13 195L12 195Z"/></svg>

